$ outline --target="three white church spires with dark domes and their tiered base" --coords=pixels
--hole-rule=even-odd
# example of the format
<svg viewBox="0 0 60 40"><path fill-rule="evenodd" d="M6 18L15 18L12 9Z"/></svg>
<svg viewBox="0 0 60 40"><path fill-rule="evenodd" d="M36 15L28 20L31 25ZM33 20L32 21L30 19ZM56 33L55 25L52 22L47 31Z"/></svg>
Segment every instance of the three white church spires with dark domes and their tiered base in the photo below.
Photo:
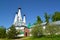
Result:
<svg viewBox="0 0 60 40"><path fill-rule="evenodd" d="M14 23L15 26L26 26L26 19L25 19L25 15L22 19L21 16L21 8L18 9L18 12L16 12L15 15L15 19L14 19Z"/></svg>

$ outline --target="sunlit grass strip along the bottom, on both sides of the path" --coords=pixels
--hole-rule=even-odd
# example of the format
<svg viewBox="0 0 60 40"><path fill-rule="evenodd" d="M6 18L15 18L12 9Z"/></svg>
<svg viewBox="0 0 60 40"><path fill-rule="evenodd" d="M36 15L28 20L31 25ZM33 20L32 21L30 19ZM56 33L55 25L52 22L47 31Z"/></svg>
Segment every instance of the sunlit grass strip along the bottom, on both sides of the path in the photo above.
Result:
<svg viewBox="0 0 60 40"><path fill-rule="evenodd" d="M60 40L60 35L59 36L54 36L54 37L49 37L49 36L43 36L43 37L23 37L23 38L18 38L19 40ZM0 40L14 40L14 39L0 39Z"/></svg>

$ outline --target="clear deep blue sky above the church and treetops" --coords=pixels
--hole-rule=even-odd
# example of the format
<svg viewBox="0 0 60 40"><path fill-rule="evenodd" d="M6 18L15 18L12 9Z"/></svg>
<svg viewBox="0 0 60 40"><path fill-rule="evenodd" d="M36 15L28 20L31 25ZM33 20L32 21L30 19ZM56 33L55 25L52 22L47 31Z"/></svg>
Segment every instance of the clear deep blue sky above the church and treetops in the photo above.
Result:
<svg viewBox="0 0 60 40"><path fill-rule="evenodd" d="M60 0L0 0L0 26L9 28L19 7L22 8L22 16L26 14L27 24L33 24L37 16L45 21L45 12L49 15L60 12Z"/></svg>

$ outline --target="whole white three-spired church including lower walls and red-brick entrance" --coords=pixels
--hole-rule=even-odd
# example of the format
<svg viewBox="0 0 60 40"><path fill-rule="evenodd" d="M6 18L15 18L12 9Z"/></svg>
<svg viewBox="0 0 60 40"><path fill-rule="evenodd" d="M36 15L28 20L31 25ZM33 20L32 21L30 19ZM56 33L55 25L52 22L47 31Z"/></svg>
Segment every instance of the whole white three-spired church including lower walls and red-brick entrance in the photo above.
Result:
<svg viewBox="0 0 60 40"><path fill-rule="evenodd" d="M29 29L27 28L27 25L26 25L25 17L26 16L24 15L22 19L21 8L18 8L18 12L16 12L14 22L13 22L13 25L15 25L16 30L20 32L20 34L17 35L18 37L30 35Z"/></svg>

